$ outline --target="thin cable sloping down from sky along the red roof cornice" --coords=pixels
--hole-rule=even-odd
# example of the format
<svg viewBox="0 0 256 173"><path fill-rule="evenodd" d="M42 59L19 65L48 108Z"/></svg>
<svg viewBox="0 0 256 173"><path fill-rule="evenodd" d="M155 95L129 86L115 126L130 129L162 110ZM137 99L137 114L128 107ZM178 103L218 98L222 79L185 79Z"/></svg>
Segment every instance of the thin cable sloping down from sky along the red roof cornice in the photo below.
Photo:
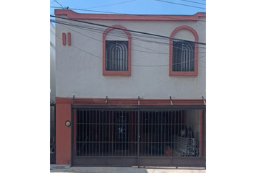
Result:
<svg viewBox="0 0 256 173"><path fill-rule="evenodd" d="M59 6L49 6L50 8L56 8L56 9L61 9L61 7ZM71 10L78 10L78 11L85 11L85 12L100 12L100 13L109 13L109 14L125 14L125 13L116 13L116 12L103 12L103 11L97 11L97 10L90 10L90 9L74 9L74 8L69 8ZM145 16L147 17L147 14L125 14L125 15L133 15L133 16ZM187 21L187 19L181 19L181 18L176 18L176 17L163 17L163 16L155 16L152 15L151 17L155 17L155 18L163 18L163 19L179 19L179 20L184 20ZM200 20L197 19L198 22L207 22L206 20Z"/></svg>

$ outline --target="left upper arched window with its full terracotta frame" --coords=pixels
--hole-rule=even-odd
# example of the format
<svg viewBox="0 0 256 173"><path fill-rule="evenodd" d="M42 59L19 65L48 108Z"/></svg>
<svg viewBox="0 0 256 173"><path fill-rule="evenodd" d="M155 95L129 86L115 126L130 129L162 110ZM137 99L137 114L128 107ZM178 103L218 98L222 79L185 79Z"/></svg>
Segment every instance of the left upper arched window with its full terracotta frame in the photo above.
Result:
<svg viewBox="0 0 256 173"><path fill-rule="evenodd" d="M130 76L131 35L125 27L120 25L112 27L103 32L103 75ZM119 32L121 37L115 37L116 32Z"/></svg>

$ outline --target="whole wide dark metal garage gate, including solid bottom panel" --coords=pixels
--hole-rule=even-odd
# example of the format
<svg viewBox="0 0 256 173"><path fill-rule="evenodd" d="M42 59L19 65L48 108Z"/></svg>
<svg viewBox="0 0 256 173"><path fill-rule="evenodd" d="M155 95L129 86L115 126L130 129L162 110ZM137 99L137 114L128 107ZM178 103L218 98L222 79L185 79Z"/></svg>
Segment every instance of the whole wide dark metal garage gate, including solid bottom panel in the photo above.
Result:
<svg viewBox="0 0 256 173"><path fill-rule="evenodd" d="M202 112L73 109L72 166L205 167Z"/></svg>

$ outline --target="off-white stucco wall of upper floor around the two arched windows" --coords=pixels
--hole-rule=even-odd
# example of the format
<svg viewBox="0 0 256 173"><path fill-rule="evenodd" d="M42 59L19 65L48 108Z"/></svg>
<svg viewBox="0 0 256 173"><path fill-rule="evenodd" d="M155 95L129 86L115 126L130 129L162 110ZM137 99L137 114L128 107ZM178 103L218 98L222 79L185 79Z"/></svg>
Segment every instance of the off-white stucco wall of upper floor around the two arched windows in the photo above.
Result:
<svg viewBox="0 0 256 173"><path fill-rule="evenodd" d="M201 17L201 20L206 18ZM60 20L60 19L59 19ZM67 22L67 21L65 21ZM199 42L206 43L206 22L132 22L132 21L90 21L102 25L121 25L128 30L149 32L169 37L176 27L187 25L197 31ZM76 25L96 27L72 22ZM71 28L72 30L68 29ZM144 99L202 99L205 97L206 49L199 48L198 76L169 76L168 41L132 35L132 74L131 76L103 76L103 31L89 31L56 23L56 97L91 98L137 98ZM80 35L77 32L81 32ZM59 39L62 32L71 32L72 45L62 45ZM98 33L100 32L100 33ZM111 33L115 33L114 30ZM125 35L125 34L124 34ZM193 40L189 32L177 32L175 37ZM167 44L142 42L140 39L161 41ZM108 40L120 37L107 35ZM79 48L75 48L75 47ZM142 48L142 47L144 48ZM200 47L205 47L199 45ZM81 49L81 50L80 50ZM93 54L91 56L88 53ZM150 53L145 53L150 52ZM203 52L203 53L202 53ZM202 57L203 56L203 57ZM155 66L155 67L147 67Z"/></svg>

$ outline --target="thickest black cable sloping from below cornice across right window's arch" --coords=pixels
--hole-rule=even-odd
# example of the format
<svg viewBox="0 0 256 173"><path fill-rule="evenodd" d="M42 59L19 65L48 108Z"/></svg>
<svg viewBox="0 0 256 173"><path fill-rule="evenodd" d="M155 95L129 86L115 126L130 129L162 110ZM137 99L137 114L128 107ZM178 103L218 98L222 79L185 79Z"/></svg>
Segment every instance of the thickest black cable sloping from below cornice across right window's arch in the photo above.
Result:
<svg viewBox="0 0 256 173"><path fill-rule="evenodd" d="M56 16L51 15L51 14L49 16L50 17L56 17ZM86 23L86 24L89 24L89 25L96 25L96 26L100 26L100 27L110 27L110 28L113 28L113 29L116 29L116 30L135 32L135 33L139 33L139 34L142 34L142 35L151 35L151 36L155 36L155 37L162 37L162 38L166 38L168 40L171 39L171 40L183 41L185 43L196 43L196 44L199 44L199 45L207 45L206 43L199 43L199 42L194 42L194 41L189 41L189 40L182 40L182 39L178 39L178 38L174 38L174 37L166 37L166 36L163 36L163 35L155 35L155 34L150 34L148 32L140 32L140 31L135 31L135 30L124 30L124 29L121 29L119 27L111 27L111 26L108 26L108 25L95 24L95 23L92 23L92 22L85 22L85 21L81 21L81 20L77 20L77 19L67 19L67 18L64 18L64 17L56 17L56 18L66 19L66 20L70 20L70 21L74 21L74 22Z"/></svg>

